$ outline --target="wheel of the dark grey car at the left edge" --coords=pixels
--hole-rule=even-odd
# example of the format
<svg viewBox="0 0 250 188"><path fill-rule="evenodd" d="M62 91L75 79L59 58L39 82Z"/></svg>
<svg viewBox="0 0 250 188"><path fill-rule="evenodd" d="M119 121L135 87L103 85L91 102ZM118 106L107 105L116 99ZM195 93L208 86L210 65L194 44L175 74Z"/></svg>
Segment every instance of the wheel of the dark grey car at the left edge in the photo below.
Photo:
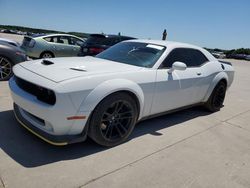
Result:
<svg viewBox="0 0 250 188"><path fill-rule="evenodd" d="M0 56L0 81L9 80L12 75L12 67L14 64L8 58Z"/></svg>

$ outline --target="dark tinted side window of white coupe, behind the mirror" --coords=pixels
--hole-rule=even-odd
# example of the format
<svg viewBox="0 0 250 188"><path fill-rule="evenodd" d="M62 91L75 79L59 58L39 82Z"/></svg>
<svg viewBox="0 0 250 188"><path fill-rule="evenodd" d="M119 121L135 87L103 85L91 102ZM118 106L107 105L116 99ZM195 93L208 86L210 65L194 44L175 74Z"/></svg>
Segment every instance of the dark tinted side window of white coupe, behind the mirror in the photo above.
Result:
<svg viewBox="0 0 250 188"><path fill-rule="evenodd" d="M188 67L197 67L207 62L208 59L199 50L191 48L176 48L166 57L161 68L170 68L176 61L186 63Z"/></svg>

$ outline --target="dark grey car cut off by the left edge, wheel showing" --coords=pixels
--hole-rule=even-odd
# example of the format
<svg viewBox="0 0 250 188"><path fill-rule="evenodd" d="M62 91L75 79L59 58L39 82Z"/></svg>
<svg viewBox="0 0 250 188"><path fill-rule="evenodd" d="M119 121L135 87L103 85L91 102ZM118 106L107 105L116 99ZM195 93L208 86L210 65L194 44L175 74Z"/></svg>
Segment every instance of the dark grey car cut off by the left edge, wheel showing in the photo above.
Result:
<svg viewBox="0 0 250 188"><path fill-rule="evenodd" d="M27 57L19 47L0 41L0 81L8 80L12 75L12 67L26 61Z"/></svg>

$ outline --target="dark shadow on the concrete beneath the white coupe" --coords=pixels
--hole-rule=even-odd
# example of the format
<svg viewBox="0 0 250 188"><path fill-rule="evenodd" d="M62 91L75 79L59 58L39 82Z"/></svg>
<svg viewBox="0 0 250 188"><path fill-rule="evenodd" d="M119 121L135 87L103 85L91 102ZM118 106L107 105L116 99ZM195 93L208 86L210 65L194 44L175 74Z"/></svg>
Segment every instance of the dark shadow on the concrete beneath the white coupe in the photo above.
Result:
<svg viewBox="0 0 250 188"><path fill-rule="evenodd" d="M145 134L161 136L162 134L157 131L207 114L208 112L202 108L196 107L146 120L135 127L130 139ZM17 163L27 168L77 159L112 149L101 147L90 139L63 147L49 145L21 127L15 120L12 110L0 112L0 148Z"/></svg>

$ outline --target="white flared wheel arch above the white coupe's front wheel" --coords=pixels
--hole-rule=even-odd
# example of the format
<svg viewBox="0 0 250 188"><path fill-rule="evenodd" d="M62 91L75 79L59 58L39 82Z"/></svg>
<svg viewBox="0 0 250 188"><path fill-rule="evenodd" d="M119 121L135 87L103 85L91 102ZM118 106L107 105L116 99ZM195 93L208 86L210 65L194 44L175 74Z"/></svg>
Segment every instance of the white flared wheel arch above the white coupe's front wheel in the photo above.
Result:
<svg viewBox="0 0 250 188"><path fill-rule="evenodd" d="M143 112L144 106L144 94L141 87L130 80L126 79L113 79L107 80L100 85L98 85L94 90L92 90L89 95L84 99L80 106L80 111L93 111L97 104L107 97L108 95L117 91L129 91L136 95L139 101L140 114L139 118Z"/></svg>

